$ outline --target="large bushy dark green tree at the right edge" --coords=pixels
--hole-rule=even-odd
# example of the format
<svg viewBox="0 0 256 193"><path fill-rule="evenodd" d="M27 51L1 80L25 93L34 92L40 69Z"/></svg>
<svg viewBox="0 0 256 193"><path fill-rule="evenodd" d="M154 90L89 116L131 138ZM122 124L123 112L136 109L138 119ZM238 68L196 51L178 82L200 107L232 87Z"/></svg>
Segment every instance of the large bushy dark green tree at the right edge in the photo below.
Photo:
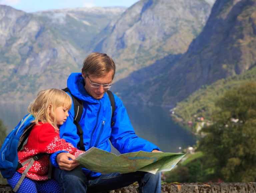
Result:
<svg viewBox="0 0 256 193"><path fill-rule="evenodd" d="M199 141L204 152L205 180L253 182L256 180L256 83L227 91L215 103L219 111L204 127Z"/></svg>

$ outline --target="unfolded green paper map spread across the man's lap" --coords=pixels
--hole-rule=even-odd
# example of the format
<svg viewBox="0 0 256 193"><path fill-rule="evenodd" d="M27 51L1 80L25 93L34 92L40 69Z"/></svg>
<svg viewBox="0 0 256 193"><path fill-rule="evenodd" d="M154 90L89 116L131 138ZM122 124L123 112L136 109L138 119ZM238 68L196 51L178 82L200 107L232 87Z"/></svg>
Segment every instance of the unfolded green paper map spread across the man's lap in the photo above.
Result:
<svg viewBox="0 0 256 193"><path fill-rule="evenodd" d="M186 155L185 153L164 153L137 151L115 155L96 147L77 156L86 169L102 174L145 171L156 174L170 171Z"/></svg>

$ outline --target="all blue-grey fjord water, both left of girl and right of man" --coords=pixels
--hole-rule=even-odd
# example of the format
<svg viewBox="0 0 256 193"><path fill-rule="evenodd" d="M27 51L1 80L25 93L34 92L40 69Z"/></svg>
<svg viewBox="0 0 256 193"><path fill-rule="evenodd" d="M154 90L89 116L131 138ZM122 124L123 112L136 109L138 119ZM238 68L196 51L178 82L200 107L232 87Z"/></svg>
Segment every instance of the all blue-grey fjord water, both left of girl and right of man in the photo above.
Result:
<svg viewBox="0 0 256 193"><path fill-rule="evenodd" d="M0 118L9 133L27 114L29 103L0 104ZM154 144L164 152L179 152L196 143L194 135L172 121L168 108L124 104L136 134ZM115 152L115 150L113 151Z"/></svg>

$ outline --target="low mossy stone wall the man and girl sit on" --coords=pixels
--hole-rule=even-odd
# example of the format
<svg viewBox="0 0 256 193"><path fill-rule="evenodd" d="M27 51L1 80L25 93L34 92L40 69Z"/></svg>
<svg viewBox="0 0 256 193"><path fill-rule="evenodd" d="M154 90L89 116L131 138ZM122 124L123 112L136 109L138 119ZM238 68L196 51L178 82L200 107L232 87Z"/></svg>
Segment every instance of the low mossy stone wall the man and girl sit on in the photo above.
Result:
<svg viewBox="0 0 256 193"><path fill-rule="evenodd" d="M134 184L106 193L138 193ZM256 193L256 182L250 183L170 183L162 184L162 193ZM0 193L12 193L9 185L0 184Z"/></svg>

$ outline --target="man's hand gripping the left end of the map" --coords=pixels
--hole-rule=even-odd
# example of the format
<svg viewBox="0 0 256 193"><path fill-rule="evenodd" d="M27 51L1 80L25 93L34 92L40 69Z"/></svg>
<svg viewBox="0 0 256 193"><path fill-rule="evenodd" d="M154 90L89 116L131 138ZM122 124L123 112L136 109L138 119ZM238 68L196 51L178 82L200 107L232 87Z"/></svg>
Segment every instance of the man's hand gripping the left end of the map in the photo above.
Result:
<svg viewBox="0 0 256 193"><path fill-rule="evenodd" d="M75 159L76 157L68 152L59 153L56 157L56 161L60 169L71 171L80 163L78 161L70 160Z"/></svg>

